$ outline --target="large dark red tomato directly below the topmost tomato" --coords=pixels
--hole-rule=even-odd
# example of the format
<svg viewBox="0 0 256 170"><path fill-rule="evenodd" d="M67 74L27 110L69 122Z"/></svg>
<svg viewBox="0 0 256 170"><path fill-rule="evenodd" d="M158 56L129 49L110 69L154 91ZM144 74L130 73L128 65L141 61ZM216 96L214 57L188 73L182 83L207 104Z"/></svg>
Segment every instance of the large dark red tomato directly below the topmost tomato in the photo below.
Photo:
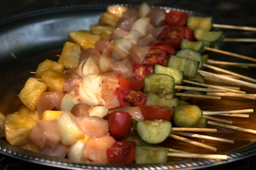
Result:
<svg viewBox="0 0 256 170"><path fill-rule="evenodd" d="M168 26L157 35L157 40L179 50L180 42L185 37L185 31L186 27L184 26Z"/></svg>

